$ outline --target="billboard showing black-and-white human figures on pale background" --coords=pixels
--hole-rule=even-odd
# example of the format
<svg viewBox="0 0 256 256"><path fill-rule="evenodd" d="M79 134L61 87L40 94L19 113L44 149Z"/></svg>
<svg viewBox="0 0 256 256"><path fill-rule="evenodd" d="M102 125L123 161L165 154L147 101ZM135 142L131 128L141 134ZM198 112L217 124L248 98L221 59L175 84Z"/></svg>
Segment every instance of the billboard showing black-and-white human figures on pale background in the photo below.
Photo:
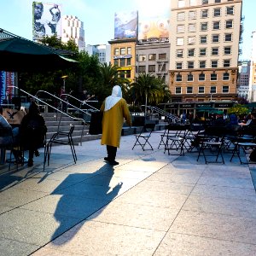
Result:
<svg viewBox="0 0 256 256"><path fill-rule="evenodd" d="M33 40L57 35L61 38L61 5L55 3L32 3Z"/></svg>

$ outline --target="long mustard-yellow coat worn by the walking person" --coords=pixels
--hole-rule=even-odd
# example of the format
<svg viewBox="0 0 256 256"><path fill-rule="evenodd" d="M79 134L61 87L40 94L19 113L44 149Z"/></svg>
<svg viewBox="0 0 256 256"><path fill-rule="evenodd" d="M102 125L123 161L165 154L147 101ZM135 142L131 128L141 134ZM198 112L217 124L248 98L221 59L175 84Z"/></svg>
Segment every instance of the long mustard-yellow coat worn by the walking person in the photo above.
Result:
<svg viewBox="0 0 256 256"><path fill-rule="evenodd" d="M131 114L125 99L121 98L113 108L104 111L105 101L102 103L102 145L119 148L124 119L131 126Z"/></svg>

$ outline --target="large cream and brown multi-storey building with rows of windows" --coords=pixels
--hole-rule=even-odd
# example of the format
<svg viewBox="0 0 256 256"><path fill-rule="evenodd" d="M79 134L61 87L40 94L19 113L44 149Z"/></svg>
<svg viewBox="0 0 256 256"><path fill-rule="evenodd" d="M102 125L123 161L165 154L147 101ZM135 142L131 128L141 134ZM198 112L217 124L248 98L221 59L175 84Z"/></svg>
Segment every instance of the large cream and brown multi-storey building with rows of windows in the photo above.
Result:
<svg viewBox="0 0 256 256"><path fill-rule="evenodd" d="M172 0L173 102L232 100L241 42L242 0Z"/></svg>

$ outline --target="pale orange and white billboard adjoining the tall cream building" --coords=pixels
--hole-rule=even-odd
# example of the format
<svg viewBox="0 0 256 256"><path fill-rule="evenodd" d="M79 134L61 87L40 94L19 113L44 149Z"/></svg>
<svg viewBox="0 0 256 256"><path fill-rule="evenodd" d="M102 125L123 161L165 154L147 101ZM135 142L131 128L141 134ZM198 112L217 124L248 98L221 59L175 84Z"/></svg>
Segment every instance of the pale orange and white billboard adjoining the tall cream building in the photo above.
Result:
<svg viewBox="0 0 256 256"><path fill-rule="evenodd" d="M138 40L169 38L170 18L151 16L139 19Z"/></svg>

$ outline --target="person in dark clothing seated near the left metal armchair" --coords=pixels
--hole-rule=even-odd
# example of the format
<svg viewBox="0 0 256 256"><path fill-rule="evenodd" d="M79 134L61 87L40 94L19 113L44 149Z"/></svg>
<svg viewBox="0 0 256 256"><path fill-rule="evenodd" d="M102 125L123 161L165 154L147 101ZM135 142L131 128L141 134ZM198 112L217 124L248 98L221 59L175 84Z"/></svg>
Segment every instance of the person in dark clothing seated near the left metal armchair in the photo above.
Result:
<svg viewBox="0 0 256 256"><path fill-rule="evenodd" d="M33 156L39 155L38 148L44 146L47 127L44 117L40 114L38 104L31 102L29 112L20 124L20 143L29 150L27 166L33 166Z"/></svg>

